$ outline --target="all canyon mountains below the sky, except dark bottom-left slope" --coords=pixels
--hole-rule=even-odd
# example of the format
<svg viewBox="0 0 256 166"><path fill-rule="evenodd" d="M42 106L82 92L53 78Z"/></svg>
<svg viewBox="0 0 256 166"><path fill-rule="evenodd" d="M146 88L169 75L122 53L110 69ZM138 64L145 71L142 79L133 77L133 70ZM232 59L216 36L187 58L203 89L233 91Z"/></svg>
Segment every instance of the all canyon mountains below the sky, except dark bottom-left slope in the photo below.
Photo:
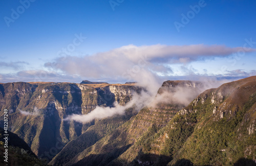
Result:
<svg viewBox="0 0 256 166"><path fill-rule="evenodd" d="M202 82L165 81L139 112L63 121L145 91L84 82L0 84L0 115L12 112L10 130L52 165L255 165L256 76L204 92Z"/></svg>

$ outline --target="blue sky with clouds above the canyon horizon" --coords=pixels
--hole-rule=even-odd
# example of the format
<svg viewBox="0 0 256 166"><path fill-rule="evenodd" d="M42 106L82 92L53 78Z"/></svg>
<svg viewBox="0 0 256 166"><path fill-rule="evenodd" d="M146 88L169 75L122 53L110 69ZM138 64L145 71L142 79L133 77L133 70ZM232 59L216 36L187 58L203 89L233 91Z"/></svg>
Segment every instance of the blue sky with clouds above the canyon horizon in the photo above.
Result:
<svg viewBox="0 0 256 166"><path fill-rule="evenodd" d="M0 18L0 82L256 75L256 1L4 0Z"/></svg>

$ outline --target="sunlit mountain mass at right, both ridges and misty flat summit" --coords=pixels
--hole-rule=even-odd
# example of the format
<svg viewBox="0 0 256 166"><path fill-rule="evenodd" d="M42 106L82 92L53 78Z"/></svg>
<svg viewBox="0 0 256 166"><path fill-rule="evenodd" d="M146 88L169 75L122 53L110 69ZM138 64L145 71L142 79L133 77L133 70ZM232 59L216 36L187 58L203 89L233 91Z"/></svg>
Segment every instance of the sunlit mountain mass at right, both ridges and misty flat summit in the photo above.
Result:
<svg viewBox="0 0 256 166"><path fill-rule="evenodd" d="M201 86L200 82L165 81L157 96L166 91L175 96L180 88L198 92ZM144 107L60 165L255 165L255 110L256 76L206 90L186 106L180 100L163 100ZM72 152L72 147L62 150Z"/></svg>

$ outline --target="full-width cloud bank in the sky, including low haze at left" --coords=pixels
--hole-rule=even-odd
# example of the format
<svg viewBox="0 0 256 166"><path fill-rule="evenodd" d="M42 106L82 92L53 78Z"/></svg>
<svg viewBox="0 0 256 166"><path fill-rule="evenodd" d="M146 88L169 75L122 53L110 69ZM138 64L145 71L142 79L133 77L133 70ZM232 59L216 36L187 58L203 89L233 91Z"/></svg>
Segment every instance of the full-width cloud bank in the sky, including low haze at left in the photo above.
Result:
<svg viewBox="0 0 256 166"><path fill-rule="evenodd" d="M166 80L166 77L181 75L198 75L193 67L188 65L193 62L204 62L213 58L227 58L254 52L251 47L227 47L225 45L125 45L110 51L98 52L87 56L63 56L48 60L41 69L29 69L18 63L16 73L1 73L2 82L15 81L77 81L113 80L113 81L139 81L148 82L152 78ZM244 56L244 55L243 55ZM235 57L235 58L237 58ZM241 58L241 57L240 57ZM233 63L233 61L232 61ZM4 63L2 67L15 66ZM174 71L174 66L180 65L180 73ZM230 66L232 64L229 64ZM14 67L13 67L14 68ZM216 68L212 66L212 68ZM237 69L242 71L242 69ZM226 70L227 77L246 77L255 73L243 71L236 73ZM180 75L179 75L180 74ZM211 75L205 69L205 76ZM222 74L223 77L225 73ZM168 78L167 78L168 79ZM158 82L158 84L159 84Z"/></svg>

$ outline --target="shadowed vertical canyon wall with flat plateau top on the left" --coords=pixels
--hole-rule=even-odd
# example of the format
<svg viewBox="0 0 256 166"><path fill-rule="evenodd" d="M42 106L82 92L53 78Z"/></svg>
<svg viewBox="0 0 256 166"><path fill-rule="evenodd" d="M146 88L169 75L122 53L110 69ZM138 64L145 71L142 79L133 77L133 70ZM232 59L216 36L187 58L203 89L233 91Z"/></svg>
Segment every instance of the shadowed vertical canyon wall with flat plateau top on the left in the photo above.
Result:
<svg viewBox="0 0 256 166"><path fill-rule="evenodd" d="M141 90L140 87L122 85L94 88L72 83L1 84L0 115L8 109L10 130L24 139L35 154L45 156L56 144L76 139L97 123L80 124L62 121L63 118L87 114L96 106L111 107L115 101L124 105L133 93ZM49 156L53 157L60 150L57 148Z"/></svg>

